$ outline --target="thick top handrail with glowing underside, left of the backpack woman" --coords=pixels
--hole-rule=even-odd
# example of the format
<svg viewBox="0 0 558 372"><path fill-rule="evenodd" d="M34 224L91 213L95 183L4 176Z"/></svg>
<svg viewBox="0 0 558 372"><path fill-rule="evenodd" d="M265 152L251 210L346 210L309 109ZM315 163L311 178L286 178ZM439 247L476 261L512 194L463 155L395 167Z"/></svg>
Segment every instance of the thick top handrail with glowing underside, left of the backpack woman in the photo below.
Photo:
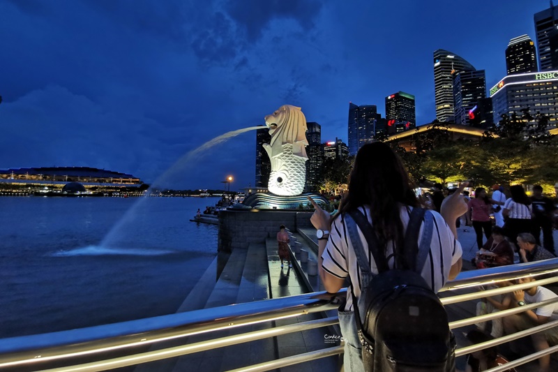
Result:
<svg viewBox="0 0 558 372"><path fill-rule="evenodd" d="M91 355L220 329L338 308L346 290L266 299L246 304L130 320L50 334L0 339L0 369L31 361Z"/></svg>

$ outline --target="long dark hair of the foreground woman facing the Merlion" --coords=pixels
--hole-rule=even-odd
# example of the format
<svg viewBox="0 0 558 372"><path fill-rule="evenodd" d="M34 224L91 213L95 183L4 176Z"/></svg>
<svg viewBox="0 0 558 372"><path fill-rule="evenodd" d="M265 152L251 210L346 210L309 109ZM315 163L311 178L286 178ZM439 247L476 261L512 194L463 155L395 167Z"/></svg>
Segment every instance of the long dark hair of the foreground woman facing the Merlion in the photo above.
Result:
<svg viewBox="0 0 558 372"><path fill-rule="evenodd" d="M372 224L379 243L394 240L402 247L404 230L401 205L418 206L409 175L401 159L382 142L365 144L356 154L349 177L349 191L341 202L340 214L370 206Z"/></svg>

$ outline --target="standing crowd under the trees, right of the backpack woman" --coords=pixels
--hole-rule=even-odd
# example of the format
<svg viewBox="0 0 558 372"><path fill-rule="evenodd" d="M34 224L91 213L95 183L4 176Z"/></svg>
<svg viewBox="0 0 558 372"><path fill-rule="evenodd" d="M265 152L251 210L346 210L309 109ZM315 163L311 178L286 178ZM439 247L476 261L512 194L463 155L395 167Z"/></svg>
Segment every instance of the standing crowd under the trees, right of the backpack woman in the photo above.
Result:
<svg viewBox="0 0 558 372"><path fill-rule="evenodd" d="M468 210L460 216L457 226L474 229L478 253L473 263L478 269L511 265L513 252L519 254L520 262L555 258L552 230L558 223L558 198L543 195L540 185L531 191L529 197L523 186L506 190L496 184L490 195L483 187L476 188L472 197L469 191L462 192ZM435 184L431 194L423 195L423 204L439 211L444 198L452 192ZM555 193L558 197L558 183Z"/></svg>

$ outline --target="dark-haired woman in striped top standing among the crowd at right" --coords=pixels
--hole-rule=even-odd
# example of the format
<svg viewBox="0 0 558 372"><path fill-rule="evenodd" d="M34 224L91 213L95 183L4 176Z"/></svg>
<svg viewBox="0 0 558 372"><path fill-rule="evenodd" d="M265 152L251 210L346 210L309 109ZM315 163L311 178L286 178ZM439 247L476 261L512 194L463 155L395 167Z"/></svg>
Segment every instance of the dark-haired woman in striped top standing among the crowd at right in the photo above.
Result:
<svg viewBox="0 0 558 372"><path fill-rule="evenodd" d="M510 243L517 244L518 234L531 232L531 199L521 185L510 187L511 198L504 203L502 215L506 218L504 235Z"/></svg>

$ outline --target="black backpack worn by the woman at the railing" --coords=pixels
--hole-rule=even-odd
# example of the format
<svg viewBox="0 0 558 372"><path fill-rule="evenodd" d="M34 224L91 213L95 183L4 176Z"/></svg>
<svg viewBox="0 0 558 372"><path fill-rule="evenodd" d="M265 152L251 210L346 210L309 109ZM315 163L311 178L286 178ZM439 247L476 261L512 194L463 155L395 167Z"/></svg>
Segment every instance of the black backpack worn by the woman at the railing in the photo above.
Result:
<svg viewBox="0 0 558 372"><path fill-rule="evenodd" d="M399 262L395 269L389 269L385 250L379 250L377 236L361 211L349 215L361 228L379 270L359 298L365 309L363 318L353 291L365 371L455 371L455 338L448 327L446 310L420 274L430 251L428 244L419 251L417 243L425 210L413 209L405 246L400 256L395 256L395 262ZM429 218L425 230L432 226L432 214L427 221ZM430 244L430 239L427 241ZM361 242L357 244L363 252ZM368 262L363 263L370 268Z"/></svg>

